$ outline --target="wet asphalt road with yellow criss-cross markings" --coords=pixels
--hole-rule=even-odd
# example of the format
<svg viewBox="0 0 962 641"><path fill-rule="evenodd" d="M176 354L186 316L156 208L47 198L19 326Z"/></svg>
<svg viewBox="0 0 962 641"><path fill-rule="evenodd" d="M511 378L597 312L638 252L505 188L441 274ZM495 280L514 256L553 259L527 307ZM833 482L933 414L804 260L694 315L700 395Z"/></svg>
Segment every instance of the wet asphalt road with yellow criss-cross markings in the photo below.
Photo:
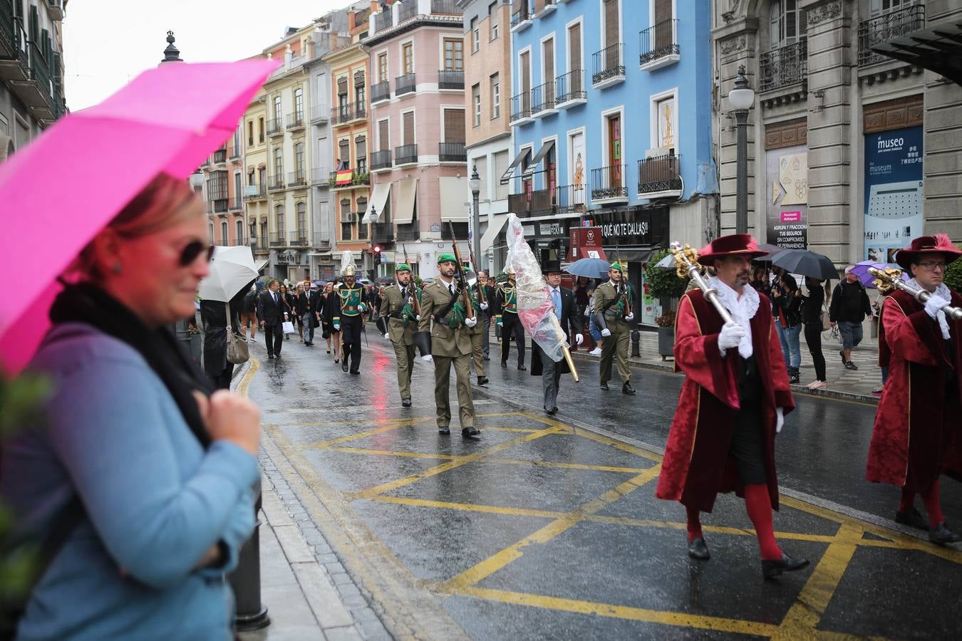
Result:
<svg viewBox="0 0 962 641"><path fill-rule="evenodd" d="M775 530L813 563L765 582L741 501L720 497L705 516L713 558L696 562L684 510L654 499L680 376L633 370L638 394L625 396L601 391L596 361L579 359L581 382L563 377L547 417L541 380L493 353L475 395L481 438L463 439L456 418L442 437L433 366L418 359L415 407L402 408L390 344L368 327L361 376L319 338L306 348L294 336L279 360L254 348L248 391L304 493L333 516L318 527L347 533L332 547L389 618L416 622L405 630L437 636L418 630L431 610L478 639L958 637L962 553L879 527L898 490L864 481L874 406L796 397L777 441L791 496ZM947 519L962 525L962 487L944 488Z"/></svg>

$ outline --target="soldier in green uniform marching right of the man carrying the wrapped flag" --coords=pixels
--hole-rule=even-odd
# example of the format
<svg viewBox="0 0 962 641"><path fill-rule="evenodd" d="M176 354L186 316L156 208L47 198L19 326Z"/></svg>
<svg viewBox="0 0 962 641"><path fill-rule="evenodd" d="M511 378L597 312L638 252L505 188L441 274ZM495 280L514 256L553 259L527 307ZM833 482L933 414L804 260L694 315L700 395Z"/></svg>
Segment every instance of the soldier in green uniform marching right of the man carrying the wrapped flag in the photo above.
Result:
<svg viewBox="0 0 962 641"><path fill-rule="evenodd" d="M621 379L621 392L634 394L631 386L631 371L628 369L628 341L631 336L631 321L635 318L635 295L631 285L624 282L621 263L611 263L608 269L608 282L595 288L595 326L605 337L601 349L601 389L608 389L611 380L611 361L618 363L618 376Z"/></svg>

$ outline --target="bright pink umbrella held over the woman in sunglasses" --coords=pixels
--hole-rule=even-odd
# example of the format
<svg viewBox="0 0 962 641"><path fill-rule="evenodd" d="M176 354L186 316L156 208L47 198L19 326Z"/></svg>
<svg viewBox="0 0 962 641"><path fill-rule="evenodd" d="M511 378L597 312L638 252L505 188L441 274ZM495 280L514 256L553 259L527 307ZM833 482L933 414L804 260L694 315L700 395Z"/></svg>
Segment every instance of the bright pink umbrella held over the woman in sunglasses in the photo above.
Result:
<svg viewBox="0 0 962 641"><path fill-rule="evenodd" d="M90 238L159 173L186 179L234 133L278 63L163 64L0 164L0 256L26 284L0 297L0 365L16 373L33 356L55 279Z"/></svg>

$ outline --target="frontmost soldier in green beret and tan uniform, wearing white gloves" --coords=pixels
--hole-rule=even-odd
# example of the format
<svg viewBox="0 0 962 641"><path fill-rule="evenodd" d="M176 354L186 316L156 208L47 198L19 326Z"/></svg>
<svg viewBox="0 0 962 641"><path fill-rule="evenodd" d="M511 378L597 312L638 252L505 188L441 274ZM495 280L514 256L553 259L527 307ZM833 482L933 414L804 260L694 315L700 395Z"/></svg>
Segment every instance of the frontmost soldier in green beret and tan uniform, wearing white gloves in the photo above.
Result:
<svg viewBox="0 0 962 641"><path fill-rule="evenodd" d="M441 275L434 283L424 287L421 293L419 331L431 331L431 354L422 358L434 360L434 402L437 406L438 431L443 434L451 433L448 383L451 380L453 364L457 377L461 434L476 436L481 431L474 427L474 401L471 398L472 348L468 330L477 325L477 317L466 318L463 299L460 297L462 285L454 280L456 264L452 254L439 256L438 270Z"/></svg>

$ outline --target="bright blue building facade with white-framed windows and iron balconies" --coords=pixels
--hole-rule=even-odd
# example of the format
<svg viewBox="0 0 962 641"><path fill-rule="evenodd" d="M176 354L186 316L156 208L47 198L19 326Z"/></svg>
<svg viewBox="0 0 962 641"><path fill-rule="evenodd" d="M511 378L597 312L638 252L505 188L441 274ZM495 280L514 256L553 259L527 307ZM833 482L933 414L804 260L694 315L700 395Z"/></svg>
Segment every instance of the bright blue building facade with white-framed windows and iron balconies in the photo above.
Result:
<svg viewBox="0 0 962 641"><path fill-rule="evenodd" d="M511 22L516 153L502 181L542 258L583 258L572 228L600 228L640 285L654 251L712 236L707 0L514 0Z"/></svg>

